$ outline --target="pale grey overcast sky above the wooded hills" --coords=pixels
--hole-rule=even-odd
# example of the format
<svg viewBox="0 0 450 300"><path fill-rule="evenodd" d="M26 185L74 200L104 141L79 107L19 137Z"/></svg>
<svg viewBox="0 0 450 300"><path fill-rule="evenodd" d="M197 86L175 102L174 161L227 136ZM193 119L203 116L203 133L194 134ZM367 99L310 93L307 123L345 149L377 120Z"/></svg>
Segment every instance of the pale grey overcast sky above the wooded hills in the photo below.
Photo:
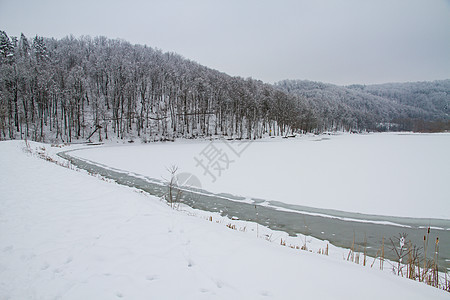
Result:
<svg viewBox="0 0 450 300"><path fill-rule="evenodd" d="M269 83L450 78L450 0L0 0L0 29L122 38Z"/></svg>

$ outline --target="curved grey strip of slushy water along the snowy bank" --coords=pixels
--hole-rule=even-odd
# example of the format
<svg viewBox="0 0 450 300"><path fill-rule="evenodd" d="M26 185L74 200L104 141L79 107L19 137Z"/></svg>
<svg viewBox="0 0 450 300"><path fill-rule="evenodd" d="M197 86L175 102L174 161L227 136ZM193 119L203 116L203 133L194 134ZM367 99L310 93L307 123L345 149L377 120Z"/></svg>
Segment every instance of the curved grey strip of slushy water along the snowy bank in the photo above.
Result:
<svg viewBox="0 0 450 300"><path fill-rule="evenodd" d="M112 179L119 184L137 188L151 195L162 197L167 193L167 183L144 175L79 159L69 153L58 155L80 169ZM309 235L331 244L363 251L375 257L384 237L385 256L395 260L390 239L396 241L400 234L407 235L413 245L423 248L424 235L431 227L427 257L434 256L435 241L439 237L439 270L450 270L450 220L419 219L377 216L343 211L290 205L263 199L244 199L228 194L214 194L205 190L183 188L181 202L203 211L218 212L222 216L256 222L273 230L285 231L291 236ZM423 249L421 249L423 252Z"/></svg>

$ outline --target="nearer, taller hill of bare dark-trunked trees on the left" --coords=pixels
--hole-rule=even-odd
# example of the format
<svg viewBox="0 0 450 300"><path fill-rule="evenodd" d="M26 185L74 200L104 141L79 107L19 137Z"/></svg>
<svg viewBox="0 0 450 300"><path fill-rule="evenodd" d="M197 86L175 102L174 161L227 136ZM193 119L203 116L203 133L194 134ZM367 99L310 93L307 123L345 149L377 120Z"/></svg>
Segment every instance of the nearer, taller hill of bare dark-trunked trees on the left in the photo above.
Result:
<svg viewBox="0 0 450 300"><path fill-rule="evenodd" d="M0 33L0 136L37 141L297 131L300 99L147 46Z"/></svg>

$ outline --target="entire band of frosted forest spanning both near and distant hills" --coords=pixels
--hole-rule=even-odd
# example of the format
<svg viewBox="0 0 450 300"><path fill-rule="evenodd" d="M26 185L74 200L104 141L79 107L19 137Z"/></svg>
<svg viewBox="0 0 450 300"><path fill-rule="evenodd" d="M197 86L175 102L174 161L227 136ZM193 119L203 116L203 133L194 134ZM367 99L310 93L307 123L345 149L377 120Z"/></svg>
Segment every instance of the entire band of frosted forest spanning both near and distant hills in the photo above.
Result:
<svg viewBox="0 0 450 300"><path fill-rule="evenodd" d="M72 142L331 130L442 131L450 80L338 87L231 77L106 37L0 32L0 138Z"/></svg>

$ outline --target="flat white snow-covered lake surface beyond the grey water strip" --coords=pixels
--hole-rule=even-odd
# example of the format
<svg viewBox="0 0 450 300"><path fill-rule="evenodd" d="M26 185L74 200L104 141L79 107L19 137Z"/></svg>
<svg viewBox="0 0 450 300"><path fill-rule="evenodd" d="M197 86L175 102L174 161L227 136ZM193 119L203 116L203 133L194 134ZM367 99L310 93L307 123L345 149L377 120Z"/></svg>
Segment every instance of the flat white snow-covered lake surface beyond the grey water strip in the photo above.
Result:
<svg viewBox="0 0 450 300"><path fill-rule="evenodd" d="M450 134L300 136L106 145L72 155L216 193L376 215L450 219Z"/></svg>

